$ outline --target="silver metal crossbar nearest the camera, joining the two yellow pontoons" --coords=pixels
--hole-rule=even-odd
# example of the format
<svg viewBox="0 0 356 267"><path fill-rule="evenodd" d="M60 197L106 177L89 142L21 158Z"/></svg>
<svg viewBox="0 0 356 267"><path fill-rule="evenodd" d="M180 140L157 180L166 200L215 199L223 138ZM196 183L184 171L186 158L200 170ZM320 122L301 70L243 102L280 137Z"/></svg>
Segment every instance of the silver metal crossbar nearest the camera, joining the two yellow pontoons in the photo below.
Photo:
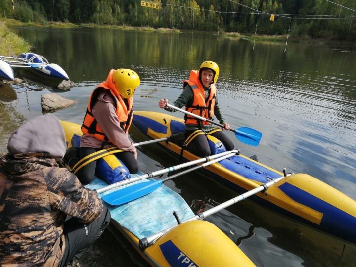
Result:
<svg viewBox="0 0 356 267"><path fill-rule="evenodd" d="M291 175L291 174L288 174L287 176L289 176L289 175ZM196 216L185 220L183 223L190 222L190 221L195 221L195 220L202 220L202 219L208 217L209 215L212 215L212 214L214 214L214 213L216 213L218 211L221 211L224 208L227 208L227 207L229 207L229 206L231 206L231 205L233 205L233 204L235 204L235 203L237 203L237 202L239 202L241 200L244 200L244 199L246 199L246 198L248 198L248 197L250 197L250 196L252 196L252 195L254 195L254 194L258 193L258 192L266 190L271 185L279 182L280 180L282 180L285 177L286 176L282 176L282 177L276 178L276 179L274 179L274 180L272 180L270 182L262 184L262 185L254 188L254 189L252 189L250 191L247 191L247 192L245 192L245 193L243 193L241 195L238 195L237 197L234 197L233 199L230 199L230 200L228 200L226 202L223 202L223 203L219 204L218 206L215 206L215 207L213 207L213 208L211 208L211 209L209 209L207 211L204 211L202 213L199 213ZM144 238L140 239L139 240L139 246L141 248L148 247L153 241L155 241L157 238L161 237L163 234L165 234L166 232L170 231L174 227L176 227L176 226L169 227L169 228L167 228L167 229L165 229L165 230L163 230L163 231L161 231L159 233L156 233L156 234L153 234L153 235L151 235L149 237L144 237Z"/></svg>

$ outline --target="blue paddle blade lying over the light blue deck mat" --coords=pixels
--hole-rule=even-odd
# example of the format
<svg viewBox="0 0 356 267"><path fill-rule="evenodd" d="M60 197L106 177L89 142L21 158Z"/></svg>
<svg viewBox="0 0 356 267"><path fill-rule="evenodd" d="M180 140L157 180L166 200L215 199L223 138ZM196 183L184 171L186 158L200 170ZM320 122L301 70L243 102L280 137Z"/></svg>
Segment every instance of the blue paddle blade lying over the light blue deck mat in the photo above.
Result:
<svg viewBox="0 0 356 267"><path fill-rule="evenodd" d="M102 197L106 203L117 206L148 195L162 184L162 180L137 183L120 190L116 190Z"/></svg>

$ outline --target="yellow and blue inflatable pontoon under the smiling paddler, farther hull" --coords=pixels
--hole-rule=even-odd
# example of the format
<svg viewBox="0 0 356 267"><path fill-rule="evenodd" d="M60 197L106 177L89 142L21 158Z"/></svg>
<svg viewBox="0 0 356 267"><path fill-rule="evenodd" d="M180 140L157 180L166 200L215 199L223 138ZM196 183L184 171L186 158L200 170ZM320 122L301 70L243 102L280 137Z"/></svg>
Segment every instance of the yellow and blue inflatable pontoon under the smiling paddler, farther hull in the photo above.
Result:
<svg viewBox="0 0 356 267"><path fill-rule="evenodd" d="M183 119L158 112L136 111L133 125L149 139L169 138L160 142L160 147L170 155L180 157L184 139L176 136L184 137ZM254 138L250 139L257 142ZM216 138L209 136L209 143L212 154L224 151L222 143ZM195 159L195 155L183 150L183 161ZM285 176L241 154L197 171L238 193ZM251 199L320 231L356 243L356 201L317 178L293 174Z"/></svg>

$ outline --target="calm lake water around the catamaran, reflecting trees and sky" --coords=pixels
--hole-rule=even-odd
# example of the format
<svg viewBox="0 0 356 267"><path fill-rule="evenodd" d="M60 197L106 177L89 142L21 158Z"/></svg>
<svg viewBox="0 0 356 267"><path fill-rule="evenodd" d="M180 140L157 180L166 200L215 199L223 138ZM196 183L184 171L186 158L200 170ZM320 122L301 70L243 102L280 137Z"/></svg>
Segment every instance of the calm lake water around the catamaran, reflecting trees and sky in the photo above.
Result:
<svg viewBox="0 0 356 267"><path fill-rule="evenodd" d="M267 166L310 174L355 199L356 47L315 44L253 44L212 34L130 32L112 29L18 28L33 52L66 70L76 87L59 93L76 105L55 112L81 123L89 94L111 68L131 68L141 77L135 110L160 111L158 100L175 100L182 81L204 60L220 66L217 83L223 113L233 127L263 133L258 147L239 143L247 156ZM22 122L41 114L47 89L26 92L0 105L1 140ZM163 111L164 112L164 111ZM176 113L178 117L182 114ZM141 141L133 131L131 138ZM174 165L155 147L140 148L142 171ZM197 174L167 185L195 211L235 196ZM249 200L211 216L257 266L355 266L356 247L274 214ZM337 220L337 218L336 218ZM113 263L115 264L115 263Z"/></svg>

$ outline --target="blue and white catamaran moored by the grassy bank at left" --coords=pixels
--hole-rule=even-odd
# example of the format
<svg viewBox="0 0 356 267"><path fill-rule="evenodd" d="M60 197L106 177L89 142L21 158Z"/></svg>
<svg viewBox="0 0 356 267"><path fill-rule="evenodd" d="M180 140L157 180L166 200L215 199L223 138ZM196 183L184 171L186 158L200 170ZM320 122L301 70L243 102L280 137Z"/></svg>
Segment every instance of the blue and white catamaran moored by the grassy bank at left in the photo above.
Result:
<svg viewBox="0 0 356 267"><path fill-rule="evenodd" d="M13 81L15 79L12 68L30 68L31 70L60 80L69 80L67 73L57 64L38 54L22 53L19 56L0 56L0 79Z"/></svg>

